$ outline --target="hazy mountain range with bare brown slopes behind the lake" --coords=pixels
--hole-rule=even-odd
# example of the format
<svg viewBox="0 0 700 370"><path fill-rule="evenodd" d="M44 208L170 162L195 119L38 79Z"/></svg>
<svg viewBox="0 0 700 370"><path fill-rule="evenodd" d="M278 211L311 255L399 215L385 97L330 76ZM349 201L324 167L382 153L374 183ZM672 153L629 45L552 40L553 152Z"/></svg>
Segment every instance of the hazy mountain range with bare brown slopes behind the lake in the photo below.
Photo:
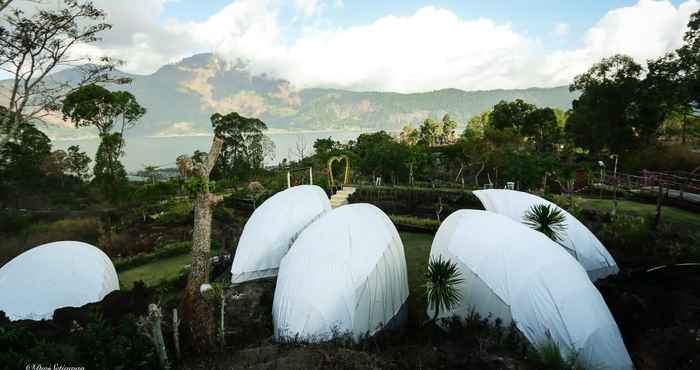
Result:
<svg viewBox="0 0 700 370"><path fill-rule="evenodd" d="M54 78L74 78L72 71ZM416 94L295 89L288 81L252 75L243 63L227 65L213 54L197 54L161 67L151 75L128 75L133 93L148 113L130 136L202 135L211 132L209 117L236 111L262 119L275 130L397 130L426 117L449 113L464 124L500 100L526 100L563 110L575 94L567 87L462 91L445 89ZM89 135L60 120L50 120L52 137Z"/></svg>

